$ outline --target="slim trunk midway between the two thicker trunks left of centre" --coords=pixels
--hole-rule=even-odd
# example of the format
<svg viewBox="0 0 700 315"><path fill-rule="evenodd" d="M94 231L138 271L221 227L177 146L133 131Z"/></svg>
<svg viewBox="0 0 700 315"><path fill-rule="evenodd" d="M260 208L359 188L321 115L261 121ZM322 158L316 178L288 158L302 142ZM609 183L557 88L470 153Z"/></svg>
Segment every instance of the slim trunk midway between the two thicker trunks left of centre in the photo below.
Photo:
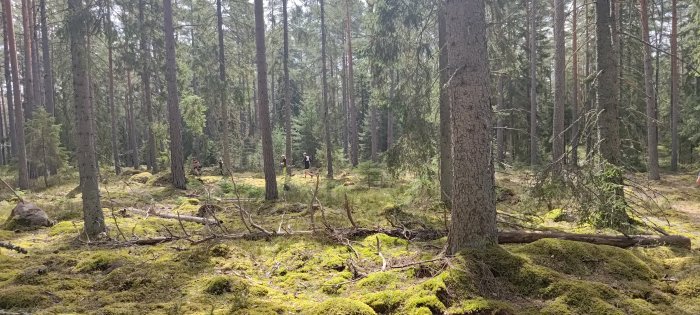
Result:
<svg viewBox="0 0 700 315"><path fill-rule="evenodd" d="M216 0L216 28L219 35L219 102L221 106L221 151L223 151L224 168L233 170L231 164L231 124L229 123L228 102L226 96L226 59L224 57L224 19L221 13L221 0ZM171 35L166 35L171 36Z"/></svg>

